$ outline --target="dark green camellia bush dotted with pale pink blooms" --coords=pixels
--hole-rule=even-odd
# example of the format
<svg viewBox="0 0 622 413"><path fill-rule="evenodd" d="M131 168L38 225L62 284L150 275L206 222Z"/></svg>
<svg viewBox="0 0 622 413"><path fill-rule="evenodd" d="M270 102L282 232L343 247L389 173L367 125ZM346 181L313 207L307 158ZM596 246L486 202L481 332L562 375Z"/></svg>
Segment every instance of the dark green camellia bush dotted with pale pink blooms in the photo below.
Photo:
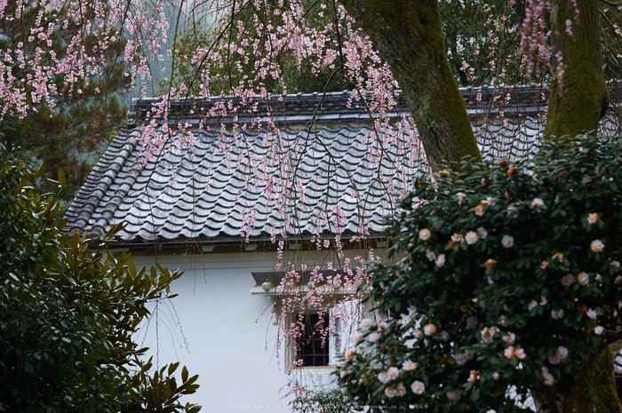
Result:
<svg viewBox="0 0 622 413"><path fill-rule="evenodd" d="M402 259L368 285L379 318L336 370L349 401L509 412L529 394L550 411L602 399L613 371L594 364L622 338L621 142L562 138L522 163L418 179L387 229Z"/></svg>

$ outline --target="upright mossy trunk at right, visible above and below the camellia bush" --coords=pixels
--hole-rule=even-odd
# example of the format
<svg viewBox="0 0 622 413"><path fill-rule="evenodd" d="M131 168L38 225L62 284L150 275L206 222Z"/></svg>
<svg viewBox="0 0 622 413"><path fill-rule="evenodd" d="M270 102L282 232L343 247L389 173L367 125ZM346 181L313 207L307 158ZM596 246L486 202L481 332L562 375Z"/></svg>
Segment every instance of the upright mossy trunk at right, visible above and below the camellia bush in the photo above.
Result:
<svg viewBox="0 0 622 413"><path fill-rule="evenodd" d="M577 9L578 21L575 18ZM571 34L566 30L569 20L572 22ZM554 0L551 24L554 52L562 53L563 74L555 76L550 85L545 139L597 129L609 106L609 89L602 75L597 0ZM605 347L583 377L588 387L579 393L584 397L572 393L557 394L562 405L548 411L586 411L586 400L593 411L622 411L613 371L613 353Z"/></svg>

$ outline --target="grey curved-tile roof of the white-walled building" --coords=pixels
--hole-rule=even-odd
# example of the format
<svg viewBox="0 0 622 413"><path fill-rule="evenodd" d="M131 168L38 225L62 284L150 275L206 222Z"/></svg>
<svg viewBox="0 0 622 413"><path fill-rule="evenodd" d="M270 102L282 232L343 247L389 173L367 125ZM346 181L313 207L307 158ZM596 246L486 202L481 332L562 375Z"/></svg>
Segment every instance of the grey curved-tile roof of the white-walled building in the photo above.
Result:
<svg viewBox="0 0 622 413"><path fill-rule="evenodd" d="M463 90L484 157L522 158L537 148L544 91L532 85L512 92L514 99L493 107L490 89ZM405 113L397 100L388 114L394 120ZM385 129L381 139L371 137L370 115L347 92L285 95L271 106L255 100L252 113L241 111L236 121L255 122L260 130L225 128L224 135L214 126L231 118L204 117L213 102L174 103L171 117L195 125L195 145L179 149L169 143L161 157L143 164L136 125L156 101L132 102L133 120L77 193L66 229L99 234L124 222L121 237L128 243L312 236L334 233L336 225L346 234L363 228L373 233L392 211L387 194L424 170L421 149L408 132ZM505 120L490 120L498 111ZM612 119L603 125L609 133L622 132Z"/></svg>

